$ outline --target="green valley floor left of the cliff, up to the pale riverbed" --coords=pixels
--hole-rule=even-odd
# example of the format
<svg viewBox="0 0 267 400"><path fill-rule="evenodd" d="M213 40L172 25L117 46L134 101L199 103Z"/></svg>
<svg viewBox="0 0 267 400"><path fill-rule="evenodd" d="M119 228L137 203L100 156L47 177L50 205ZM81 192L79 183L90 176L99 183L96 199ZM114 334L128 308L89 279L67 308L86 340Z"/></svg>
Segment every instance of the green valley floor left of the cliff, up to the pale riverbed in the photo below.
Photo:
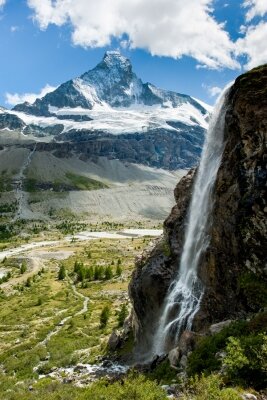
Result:
<svg viewBox="0 0 267 400"><path fill-rule="evenodd" d="M99 361L106 353L107 338L119 324L122 305L124 317L129 311L127 286L134 259L160 233L83 232L0 253L2 276L9 273L0 286L0 374L5 382L12 377L10 395L2 392L1 399L28 390L51 371L62 381L64 367ZM85 275L89 270L93 275L81 278L75 265L82 265ZM64 279L59 279L60 267ZM109 317L101 326L105 307ZM75 379L77 371L71 380ZM89 382L94 379L95 373L87 377ZM14 380L20 382L15 388ZM79 379L76 384L81 384Z"/></svg>

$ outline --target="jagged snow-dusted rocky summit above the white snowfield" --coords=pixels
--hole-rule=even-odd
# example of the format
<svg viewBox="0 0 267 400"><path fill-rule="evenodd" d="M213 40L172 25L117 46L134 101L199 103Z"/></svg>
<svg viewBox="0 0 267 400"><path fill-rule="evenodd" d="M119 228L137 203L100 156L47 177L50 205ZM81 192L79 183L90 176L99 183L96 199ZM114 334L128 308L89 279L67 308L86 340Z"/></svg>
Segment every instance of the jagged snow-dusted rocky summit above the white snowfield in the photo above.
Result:
<svg viewBox="0 0 267 400"><path fill-rule="evenodd" d="M191 104L205 115L207 110L190 96L158 89L143 83L133 72L130 60L118 51L107 51L95 68L67 81L32 105L23 103L16 111L37 116L51 116L53 109L127 108L136 105L176 108Z"/></svg>

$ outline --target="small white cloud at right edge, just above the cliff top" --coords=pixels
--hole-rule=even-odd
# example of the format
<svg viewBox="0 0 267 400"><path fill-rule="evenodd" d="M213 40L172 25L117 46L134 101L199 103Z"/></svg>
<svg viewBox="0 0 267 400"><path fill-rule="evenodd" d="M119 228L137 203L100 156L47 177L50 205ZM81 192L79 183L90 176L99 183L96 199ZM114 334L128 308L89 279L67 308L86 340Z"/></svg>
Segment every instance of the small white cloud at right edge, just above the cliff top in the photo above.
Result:
<svg viewBox="0 0 267 400"><path fill-rule="evenodd" d="M246 69L257 67L267 62L267 22L247 28L244 38L236 42L236 53L247 57Z"/></svg>

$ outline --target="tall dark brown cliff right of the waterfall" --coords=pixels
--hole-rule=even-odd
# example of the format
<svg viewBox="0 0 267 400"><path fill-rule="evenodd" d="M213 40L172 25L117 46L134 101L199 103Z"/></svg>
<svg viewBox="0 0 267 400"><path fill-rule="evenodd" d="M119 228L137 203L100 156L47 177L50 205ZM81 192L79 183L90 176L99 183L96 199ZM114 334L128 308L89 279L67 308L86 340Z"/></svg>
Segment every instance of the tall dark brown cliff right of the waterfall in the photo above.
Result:
<svg viewBox="0 0 267 400"><path fill-rule="evenodd" d="M230 91L196 329L267 305L266 139L267 65L241 75Z"/></svg>

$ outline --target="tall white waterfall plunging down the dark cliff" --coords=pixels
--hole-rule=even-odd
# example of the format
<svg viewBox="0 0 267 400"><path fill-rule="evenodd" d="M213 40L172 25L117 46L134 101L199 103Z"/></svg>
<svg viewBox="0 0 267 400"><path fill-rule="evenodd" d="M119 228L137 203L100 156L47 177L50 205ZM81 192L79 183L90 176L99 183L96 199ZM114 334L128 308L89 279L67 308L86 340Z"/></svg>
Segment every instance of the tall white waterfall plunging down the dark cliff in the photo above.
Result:
<svg viewBox="0 0 267 400"><path fill-rule="evenodd" d="M182 330L190 330L204 288L197 276L200 258L209 244L212 192L224 149L228 87L218 100L207 132L189 207L185 242L177 278L168 290L150 356L174 347Z"/></svg>

